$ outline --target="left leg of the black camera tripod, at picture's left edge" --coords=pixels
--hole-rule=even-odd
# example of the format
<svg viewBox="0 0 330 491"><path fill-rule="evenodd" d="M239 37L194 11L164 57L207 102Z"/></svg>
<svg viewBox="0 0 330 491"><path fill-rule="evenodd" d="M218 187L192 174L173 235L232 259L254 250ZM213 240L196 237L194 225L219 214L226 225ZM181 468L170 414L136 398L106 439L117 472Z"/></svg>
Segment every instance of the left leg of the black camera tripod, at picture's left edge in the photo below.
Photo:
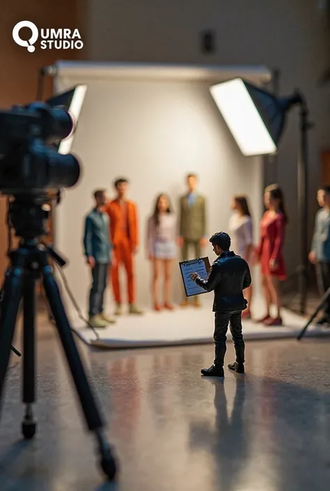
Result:
<svg viewBox="0 0 330 491"><path fill-rule="evenodd" d="M19 303L22 297L25 256L17 255L17 263L6 275L0 315L0 400L8 369Z"/></svg>

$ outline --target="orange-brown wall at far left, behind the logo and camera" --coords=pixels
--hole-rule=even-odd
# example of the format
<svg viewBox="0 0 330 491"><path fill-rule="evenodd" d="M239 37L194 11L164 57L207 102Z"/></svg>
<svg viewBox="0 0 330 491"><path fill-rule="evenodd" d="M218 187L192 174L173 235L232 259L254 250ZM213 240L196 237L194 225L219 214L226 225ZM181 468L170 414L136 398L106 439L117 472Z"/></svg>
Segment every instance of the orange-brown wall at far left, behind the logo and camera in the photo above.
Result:
<svg viewBox="0 0 330 491"><path fill-rule="evenodd" d="M77 59L84 56L84 50L36 49L29 53L26 48L17 46L12 38L15 24L30 20L37 26L49 28L81 29L82 0L5 0L1 2L0 17L0 107L12 104L26 104L36 98L38 70L52 65L57 59ZM64 13L64 14L63 14ZM83 30L81 30L83 36ZM29 38L29 30L22 29L22 37ZM45 97L52 95L52 79L45 80ZM6 198L0 197L0 281L6 267L7 258Z"/></svg>

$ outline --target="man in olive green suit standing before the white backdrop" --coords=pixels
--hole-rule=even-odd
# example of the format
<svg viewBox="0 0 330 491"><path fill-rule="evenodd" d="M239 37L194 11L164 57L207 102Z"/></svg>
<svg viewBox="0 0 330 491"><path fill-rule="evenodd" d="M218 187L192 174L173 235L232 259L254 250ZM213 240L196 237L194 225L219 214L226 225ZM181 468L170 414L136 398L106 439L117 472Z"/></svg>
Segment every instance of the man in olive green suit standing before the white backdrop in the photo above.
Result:
<svg viewBox="0 0 330 491"><path fill-rule="evenodd" d="M202 249L207 244L206 230L206 204L204 196L196 192L197 176L187 176L188 193L180 198L180 247L182 260L189 259L192 249L192 258L202 256ZM187 299L182 306L187 306ZM198 297L194 297L194 305L199 306Z"/></svg>

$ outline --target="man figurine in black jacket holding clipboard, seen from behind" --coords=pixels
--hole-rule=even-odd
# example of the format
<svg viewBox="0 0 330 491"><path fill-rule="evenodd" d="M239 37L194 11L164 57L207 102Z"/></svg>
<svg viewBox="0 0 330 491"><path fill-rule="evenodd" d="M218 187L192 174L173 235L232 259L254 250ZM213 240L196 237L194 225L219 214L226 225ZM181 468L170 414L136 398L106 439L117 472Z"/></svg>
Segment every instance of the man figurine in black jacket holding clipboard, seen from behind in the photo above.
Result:
<svg viewBox="0 0 330 491"><path fill-rule="evenodd" d="M251 274L246 260L230 249L228 233L219 232L212 235L210 242L218 258L212 264L208 278L201 279L197 273L191 273L191 279L198 286L211 292L214 290L214 343L215 359L210 368L203 368L202 375L223 377L223 361L226 354L226 334L230 322L230 332L235 345L236 361L228 368L237 373L244 373L244 340L242 335L242 311L246 309L243 290L251 285Z"/></svg>

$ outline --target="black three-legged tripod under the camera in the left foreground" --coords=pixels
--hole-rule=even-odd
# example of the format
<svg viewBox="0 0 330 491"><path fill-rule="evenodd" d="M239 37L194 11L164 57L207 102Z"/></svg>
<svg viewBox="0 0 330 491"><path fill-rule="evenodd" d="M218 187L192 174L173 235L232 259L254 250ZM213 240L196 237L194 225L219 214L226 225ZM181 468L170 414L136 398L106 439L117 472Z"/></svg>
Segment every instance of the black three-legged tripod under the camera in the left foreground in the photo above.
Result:
<svg viewBox="0 0 330 491"><path fill-rule="evenodd" d="M36 210L34 206L30 208L30 211L32 209ZM30 224L32 226L32 221L30 221ZM49 251L40 246L36 238L24 238L22 236L24 230L27 230L26 224L24 228L21 228L21 233L18 233L18 229L16 229L17 235L22 238L19 242L19 247L10 253L11 263L3 286L3 303L0 313L0 400L10 359L17 313L22 300L24 324L23 403L25 404L22 434L26 439L33 438L36 433L36 421L33 418L32 411L33 403L36 400L36 280L42 276L47 301L61 338L88 430L95 432L97 438L101 457L100 465L104 473L112 480L116 474L116 462L111 454L107 439L104 438L102 433L102 419L97 410L93 392L88 384L77 346L74 343L58 285L52 274L52 267L49 265Z"/></svg>

